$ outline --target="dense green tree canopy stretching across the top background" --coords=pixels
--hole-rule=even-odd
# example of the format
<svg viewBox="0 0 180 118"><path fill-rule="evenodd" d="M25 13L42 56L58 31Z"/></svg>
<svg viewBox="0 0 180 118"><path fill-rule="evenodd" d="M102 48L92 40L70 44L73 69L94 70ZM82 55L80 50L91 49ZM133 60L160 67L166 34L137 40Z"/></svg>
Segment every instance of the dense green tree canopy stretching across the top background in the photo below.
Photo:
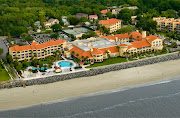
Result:
<svg viewBox="0 0 180 118"><path fill-rule="evenodd" d="M0 35L20 36L34 27L35 21L41 25L47 18L57 18L63 25L61 16L70 16L70 24L76 25L79 20L76 13L97 14L107 6L138 6L138 10L122 10L119 18L130 22L130 15L150 13L153 16L178 17L180 0L0 0ZM178 11L178 15L176 13ZM111 13L108 17L113 17ZM101 18L101 17L100 17ZM84 20L84 19L82 19Z"/></svg>

